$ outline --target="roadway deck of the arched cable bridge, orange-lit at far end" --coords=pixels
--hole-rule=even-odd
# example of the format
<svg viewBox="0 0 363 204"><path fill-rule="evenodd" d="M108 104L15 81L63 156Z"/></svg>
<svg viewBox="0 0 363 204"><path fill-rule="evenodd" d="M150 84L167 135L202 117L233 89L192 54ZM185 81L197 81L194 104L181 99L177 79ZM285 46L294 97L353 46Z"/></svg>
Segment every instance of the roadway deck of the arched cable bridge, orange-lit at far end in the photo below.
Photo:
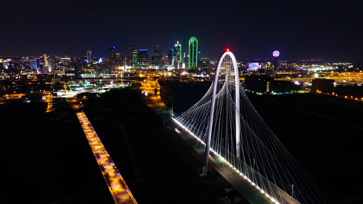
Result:
<svg viewBox="0 0 363 204"><path fill-rule="evenodd" d="M184 131L183 128L178 125L173 119L171 115L174 115L174 118L177 117L175 113L173 113L167 106L164 105L163 101L160 99L160 85L157 83L158 79L154 80L153 78L147 79L144 84L140 87L141 91L141 98L142 100L152 109L154 112L163 119L169 126L178 132L178 134L188 142L201 156L204 156L205 152L205 145L202 144L199 140L197 140L192 134L187 131ZM155 91L156 90L156 91ZM147 94L145 94L147 91ZM155 94L156 92L156 94ZM221 151L223 152L223 150ZM221 155L224 156L224 155ZM241 163L243 163L241 161ZM209 158L209 164L214 167L229 183L233 185L234 188L237 189L238 192L241 193L250 203L252 204L263 204L263 203L270 203L276 204L273 202L269 197L266 196L261 190L258 190L255 186L253 186L248 180L246 180L243 176L236 172L236 170L229 166L227 162L221 160L221 158L213 154L211 152ZM246 174L252 174L254 171L252 168L247 167L245 170L241 170L241 172L249 172ZM256 175L255 179L259 177L258 172L254 171ZM265 186L267 179L262 177ZM254 180L254 183L261 183L259 180ZM273 196L274 199L278 201L280 204L298 204L299 202L293 199L290 195L286 192L282 191L280 188L276 187L274 184L271 184L271 189L274 192ZM261 186L260 186L261 187ZM269 187L267 187L269 188Z"/></svg>

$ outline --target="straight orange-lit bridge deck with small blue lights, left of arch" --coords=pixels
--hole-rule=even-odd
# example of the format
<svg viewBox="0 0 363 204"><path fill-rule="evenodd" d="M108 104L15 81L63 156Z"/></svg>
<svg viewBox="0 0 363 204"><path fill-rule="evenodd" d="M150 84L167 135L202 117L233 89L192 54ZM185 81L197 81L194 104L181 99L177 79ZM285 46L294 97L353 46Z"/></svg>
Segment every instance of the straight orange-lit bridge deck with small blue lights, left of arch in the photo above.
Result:
<svg viewBox="0 0 363 204"><path fill-rule="evenodd" d="M99 168L102 171L103 177L105 178L105 181L109 187L115 203L137 204L134 196L130 192L130 189L127 187L115 163L111 159L105 146L103 146L101 139L99 139L96 131L86 117L86 114L83 113L83 111L77 112L77 117L79 123L81 123L83 132L85 132L92 152L95 156L95 159L97 160Z"/></svg>

